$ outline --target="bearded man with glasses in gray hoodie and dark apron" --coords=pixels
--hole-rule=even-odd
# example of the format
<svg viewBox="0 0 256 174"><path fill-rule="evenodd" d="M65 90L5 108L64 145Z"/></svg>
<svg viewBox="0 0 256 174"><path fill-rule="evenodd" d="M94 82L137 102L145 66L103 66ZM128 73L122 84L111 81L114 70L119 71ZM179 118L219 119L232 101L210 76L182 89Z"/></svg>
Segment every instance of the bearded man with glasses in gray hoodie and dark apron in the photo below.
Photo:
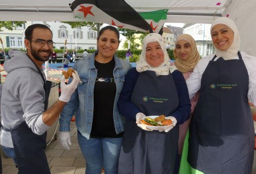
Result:
<svg viewBox="0 0 256 174"><path fill-rule="evenodd" d="M58 119L80 79L75 72L72 82L65 84L62 76L61 95L47 109L51 82L41 66L53 50L52 32L45 25L34 24L26 29L25 36L27 53L10 50L11 59L4 64L8 75L2 89L0 143L6 155L14 159L18 173L50 174L46 131Z"/></svg>

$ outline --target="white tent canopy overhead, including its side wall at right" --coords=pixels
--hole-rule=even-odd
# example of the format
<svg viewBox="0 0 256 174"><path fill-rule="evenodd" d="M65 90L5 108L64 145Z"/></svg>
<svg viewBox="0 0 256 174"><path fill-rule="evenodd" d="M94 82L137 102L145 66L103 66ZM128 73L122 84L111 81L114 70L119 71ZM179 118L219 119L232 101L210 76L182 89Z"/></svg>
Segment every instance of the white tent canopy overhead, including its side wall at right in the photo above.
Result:
<svg viewBox="0 0 256 174"><path fill-rule="evenodd" d="M69 8L74 0L1 0L0 21L81 21ZM107 0L101 0L107 1ZM241 50L256 56L255 0L125 0L136 11L168 9L166 23L205 23L228 15L241 35ZM116 10L116 9L115 9Z"/></svg>

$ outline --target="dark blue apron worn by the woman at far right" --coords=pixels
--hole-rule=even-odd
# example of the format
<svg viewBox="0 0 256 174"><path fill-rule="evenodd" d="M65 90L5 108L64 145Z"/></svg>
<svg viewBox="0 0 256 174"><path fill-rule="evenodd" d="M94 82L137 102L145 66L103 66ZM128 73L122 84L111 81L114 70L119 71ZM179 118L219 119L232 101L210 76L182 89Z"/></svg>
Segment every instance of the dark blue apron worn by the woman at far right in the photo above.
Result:
<svg viewBox="0 0 256 174"><path fill-rule="evenodd" d="M203 173L251 173L254 127L248 104L249 77L239 60L212 58L189 126L188 162Z"/></svg>

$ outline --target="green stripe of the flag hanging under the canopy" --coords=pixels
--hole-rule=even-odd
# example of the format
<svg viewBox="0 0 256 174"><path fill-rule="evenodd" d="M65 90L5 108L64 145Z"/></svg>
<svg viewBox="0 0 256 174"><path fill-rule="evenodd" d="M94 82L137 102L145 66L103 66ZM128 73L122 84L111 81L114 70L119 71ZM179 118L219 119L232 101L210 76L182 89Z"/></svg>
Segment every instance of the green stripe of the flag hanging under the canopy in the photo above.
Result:
<svg viewBox="0 0 256 174"><path fill-rule="evenodd" d="M156 23L158 23L160 20L167 19L167 12L168 10L157 10L157 11L150 11L150 12L139 12L139 14L144 19L152 19Z"/></svg>

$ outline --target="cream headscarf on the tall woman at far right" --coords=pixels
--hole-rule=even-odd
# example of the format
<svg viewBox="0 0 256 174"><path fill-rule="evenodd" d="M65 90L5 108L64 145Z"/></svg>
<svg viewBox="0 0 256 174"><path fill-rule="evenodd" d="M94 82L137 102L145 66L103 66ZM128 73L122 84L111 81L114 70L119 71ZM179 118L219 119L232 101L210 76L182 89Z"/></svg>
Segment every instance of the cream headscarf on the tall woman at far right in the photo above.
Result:
<svg viewBox="0 0 256 174"><path fill-rule="evenodd" d="M226 51L221 51L216 48L215 54L218 57L223 57L225 60L229 60L229 59L233 59L234 57L237 57L238 50L240 48L240 35L239 35L236 24L234 24L233 20L231 20L228 17L220 17L212 23L210 27L210 31L212 27L214 27L217 24L224 24L228 26L234 32L234 40L231 46Z"/></svg>

